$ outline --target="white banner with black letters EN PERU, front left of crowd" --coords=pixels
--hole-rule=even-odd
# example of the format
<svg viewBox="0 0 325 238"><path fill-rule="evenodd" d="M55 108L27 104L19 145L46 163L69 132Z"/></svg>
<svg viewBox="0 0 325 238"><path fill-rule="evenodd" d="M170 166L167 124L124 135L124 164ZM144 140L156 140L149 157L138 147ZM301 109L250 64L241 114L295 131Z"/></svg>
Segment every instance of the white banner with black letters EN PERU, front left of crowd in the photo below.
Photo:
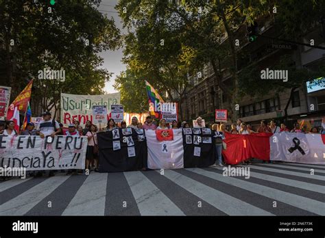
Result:
<svg viewBox="0 0 325 238"><path fill-rule="evenodd" d="M86 136L0 135L0 167L26 170L84 169Z"/></svg>

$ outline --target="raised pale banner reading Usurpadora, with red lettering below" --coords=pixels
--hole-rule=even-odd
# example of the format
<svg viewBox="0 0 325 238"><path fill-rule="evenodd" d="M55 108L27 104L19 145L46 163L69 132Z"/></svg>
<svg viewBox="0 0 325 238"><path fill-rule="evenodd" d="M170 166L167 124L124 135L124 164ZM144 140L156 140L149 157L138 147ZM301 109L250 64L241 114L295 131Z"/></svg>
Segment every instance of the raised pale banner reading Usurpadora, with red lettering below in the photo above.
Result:
<svg viewBox="0 0 325 238"><path fill-rule="evenodd" d="M120 93L106 95L61 94L61 122L64 126L78 120L81 125L87 120L93 122L93 106L106 106L110 114L110 106L120 103Z"/></svg>

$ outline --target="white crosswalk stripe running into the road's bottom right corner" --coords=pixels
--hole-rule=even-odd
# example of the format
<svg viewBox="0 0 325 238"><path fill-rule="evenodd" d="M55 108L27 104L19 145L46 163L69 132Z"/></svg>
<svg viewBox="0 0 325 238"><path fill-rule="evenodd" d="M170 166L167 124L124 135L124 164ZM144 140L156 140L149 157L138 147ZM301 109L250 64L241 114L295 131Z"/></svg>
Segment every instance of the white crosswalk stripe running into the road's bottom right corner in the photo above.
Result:
<svg viewBox="0 0 325 238"><path fill-rule="evenodd" d="M195 172L197 174L202 174L209 178L213 178L224 183L228 183L229 185L240 187L241 189L245 189L248 191L252 191L256 194L261 194L266 196L267 198L272 198L274 200L278 200L280 202L285 202L294 207L299 207L300 209L304 209L306 211L310 211L312 213L318 215L325 215L325 203L319 202L317 200L313 200L310 198L304 198L302 196L298 196L296 194L290 194L286 191L280 191L278 189L274 189L272 187L266 187L263 185L258 185L256 183L250 183L248 181L243 181L238 178L232 178L229 176L223 176L222 174L217 174L215 172L209 172L206 170L202 170L200 168L188 168L186 170Z"/></svg>

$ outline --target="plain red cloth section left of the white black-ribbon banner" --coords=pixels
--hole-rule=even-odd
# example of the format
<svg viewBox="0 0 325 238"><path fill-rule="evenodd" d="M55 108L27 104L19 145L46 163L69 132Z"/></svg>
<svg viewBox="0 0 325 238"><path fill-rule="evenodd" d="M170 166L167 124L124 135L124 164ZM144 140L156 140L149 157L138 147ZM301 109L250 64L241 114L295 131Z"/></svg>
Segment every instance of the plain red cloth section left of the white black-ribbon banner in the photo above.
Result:
<svg viewBox="0 0 325 238"><path fill-rule="evenodd" d="M269 137L272 133L236 135L226 133L227 148L222 151L226 163L237 164L246 159L269 160Z"/></svg>

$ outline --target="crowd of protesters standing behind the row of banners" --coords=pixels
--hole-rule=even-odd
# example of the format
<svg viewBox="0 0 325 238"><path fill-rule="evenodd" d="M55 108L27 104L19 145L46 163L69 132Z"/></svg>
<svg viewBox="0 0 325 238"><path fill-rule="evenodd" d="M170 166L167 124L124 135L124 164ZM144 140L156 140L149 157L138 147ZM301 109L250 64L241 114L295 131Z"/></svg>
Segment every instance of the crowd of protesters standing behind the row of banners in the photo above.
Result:
<svg viewBox="0 0 325 238"><path fill-rule="evenodd" d="M107 127L97 128L95 124L92 124L90 120L86 121L84 128L80 125L80 122L75 120L72 124L69 124L67 129L64 129L63 124L58 123L56 120L51 119L51 113L48 111L43 114L43 120L41 120L37 127L33 122L27 123L27 126L21 133L18 133L15 129L14 121L6 121L5 124L0 123L0 135L39 135L44 138L46 136L54 137L55 135L70 135L70 136L86 136L88 139L88 146L86 151L86 168L88 171L98 172L98 146L97 146L97 132L99 131L112 131L117 128L127 128L126 122L115 123L115 120L110 118L107 123ZM156 129L179 129L179 128L190 128L190 124L186 121L178 122L173 120L173 122L168 123L165 119L161 119L159 122L153 120L151 116L147 116L145 122L142 124L139 122L138 118L135 116L132 118L131 124L128 126L133 129L145 129L145 130L156 130ZM193 126L194 128L204 128L209 127L204 125L202 118L197 118L196 123ZM215 135L215 157L216 162L213 165L215 166L224 166L222 159L222 150L226 149L225 133L232 134L242 134L249 135L253 133L322 133L325 134L324 129L319 129L317 127L312 127L311 130L307 129L307 126L304 124L300 126L299 123L293 124L293 129L288 129L286 124L281 123L280 126L276 124L275 120L271 120L267 123L265 120L261 121L261 124L254 131L251 124L246 124L242 120L237 120L237 124L233 123L229 126L226 124L213 124L211 126ZM264 162L264 161L263 161ZM242 165L251 164L252 159L241 162ZM77 173L84 174L86 170L79 171ZM73 170L69 170L67 174L75 173ZM38 172L38 175L42 173ZM49 176L53 176L53 171L49 172Z"/></svg>

